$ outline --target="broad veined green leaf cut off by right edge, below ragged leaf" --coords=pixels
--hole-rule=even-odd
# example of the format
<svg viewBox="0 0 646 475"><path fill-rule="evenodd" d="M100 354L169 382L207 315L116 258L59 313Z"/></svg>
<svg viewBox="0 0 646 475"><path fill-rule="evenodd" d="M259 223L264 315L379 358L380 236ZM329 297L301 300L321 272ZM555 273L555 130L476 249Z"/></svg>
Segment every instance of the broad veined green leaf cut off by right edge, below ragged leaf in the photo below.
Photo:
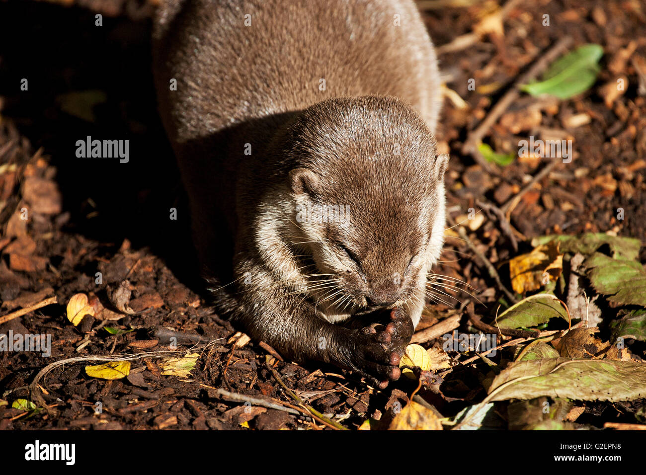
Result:
<svg viewBox="0 0 646 475"><path fill-rule="evenodd" d="M594 290L610 302L646 307L646 271L639 262L594 253L583 266Z"/></svg>

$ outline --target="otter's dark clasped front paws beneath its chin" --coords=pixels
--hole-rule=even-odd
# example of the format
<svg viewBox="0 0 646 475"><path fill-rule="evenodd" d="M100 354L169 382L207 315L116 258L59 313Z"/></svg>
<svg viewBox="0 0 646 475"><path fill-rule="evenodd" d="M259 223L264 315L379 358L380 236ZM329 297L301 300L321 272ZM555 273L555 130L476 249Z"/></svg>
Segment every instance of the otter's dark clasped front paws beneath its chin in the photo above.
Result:
<svg viewBox="0 0 646 475"><path fill-rule="evenodd" d="M397 381L399 360L413 335L413 322L399 309L390 311L390 321L371 324L353 333L353 370L380 389Z"/></svg>

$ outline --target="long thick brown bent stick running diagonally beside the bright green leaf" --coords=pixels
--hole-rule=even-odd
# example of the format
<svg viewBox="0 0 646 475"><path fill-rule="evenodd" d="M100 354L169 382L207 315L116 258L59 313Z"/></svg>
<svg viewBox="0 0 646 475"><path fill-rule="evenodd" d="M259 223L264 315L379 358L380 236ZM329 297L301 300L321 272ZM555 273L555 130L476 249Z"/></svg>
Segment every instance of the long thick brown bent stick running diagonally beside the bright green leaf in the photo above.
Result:
<svg viewBox="0 0 646 475"><path fill-rule="evenodd" d="M552 63L552 61L554 61L554 59L556 59L558 56L561 56L561 54L565 52L565 50L567 50L567 48L570 46L570 43L572 43L572 37L570 36L565 36L559 39L556 45L550 48L543 56L541 56L541 58L537 59L536 63L534 63L534 65L532 65L532 67L530 67L530 69L525 74L516 79L514 85L512 85L512 87L510 87L506 94L499 101L497 101L497 103L495 103L494 107L490 109L489 113L480 123L480 125L478 125L475 130L469 132L462 147L463 154L470 154L471 156L473 156L474 160L478 164L480 164L486 171L494 174L499 174L494 166L490 164L490 162L488 162L485 157L478 151L478 145L482 142L483 137L486 135L492 125L494 125L495 121L497 121L498 118L503 115L507 108L512 104L512 102L516 101L520 96L521 91L519 87L521 85L524 85L525 83L532 81L532 79L535 79L536 76L543 72L543 70L547 69L547 67L550 65L550 63Z"/></svg>

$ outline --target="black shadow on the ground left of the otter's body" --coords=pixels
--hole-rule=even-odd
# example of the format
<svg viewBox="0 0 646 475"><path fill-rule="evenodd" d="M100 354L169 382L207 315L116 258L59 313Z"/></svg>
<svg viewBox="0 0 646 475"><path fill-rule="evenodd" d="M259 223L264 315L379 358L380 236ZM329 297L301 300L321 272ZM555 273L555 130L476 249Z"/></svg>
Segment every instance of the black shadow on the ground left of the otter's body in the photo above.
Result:
<svg viewBox="0 0 646 475"><path fill-rule="evenodd" d="M66 231L109 247L124 238L134 248L149 247L200 291L189 215L181 212L187 200L156 106L151 21L104 16L95 26L94 15L48 3L0 3L1 114L50 156L70 212ZM66 96L78 92L85 99ZM87 136L129 140L129 163L77 158L76 142ZM169 218L171 207L180 211L177 220Z"/></svg>

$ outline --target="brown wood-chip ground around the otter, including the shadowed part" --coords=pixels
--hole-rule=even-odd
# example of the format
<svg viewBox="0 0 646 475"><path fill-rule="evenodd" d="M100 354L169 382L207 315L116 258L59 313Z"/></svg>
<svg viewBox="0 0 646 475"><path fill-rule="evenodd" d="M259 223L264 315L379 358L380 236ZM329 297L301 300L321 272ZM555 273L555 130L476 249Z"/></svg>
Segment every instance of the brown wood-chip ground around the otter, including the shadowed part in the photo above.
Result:
<svg viewBox="0 0 646 475"><path fill-rule="evenodd" d="M521 94L485 135L500 153L515 151L529 135L574 144L571 163L557 164L506 207L511 233L501 229L495 213L484 212L481 226L468 230L502 284L509 288L506 263L530 250L533 237L610 231L643 245L646 84L640 85L632 58L646 58L646 6L638 0L522 1L506 14L502 36L485 32L452 51L452 42L472 34L497 3L427 4L424 21L446 86L466 101L461 107L455 97L445 99L437 133L440 150L451 155L446 182L453 220L483 203L505 209L549 161L517 159L490 172L463 153L492 104L565 36L573 45L598 43L604 50L599 77L587 92L563 101ZM94 27L97 12L104 15L101 28ZM307 405L345 427L357 428L368 417L386 419L397 401L408 401L417 381L402 378L377 391L337 368L280 362L257 343L240 340L210 308L187 214L168 218L168 210L185 209L186 200L156 112L151 12L151 4L127 0L0 3L0 315L56 297L56 303L0 324L0 333L52 335L48 357L0 352L0 400L8 401L0 405L0 429L324 428L304 414L269 367ZM542 24L545 14L550 26ZM612 97L607 85L620 76L627 87ZM20 90L21 78L28 78L28 92ZM468 88L470 78L475 90ZM76 158L74 144L86 136L129 139L128 173L116 160ZM28 220L21 219L23 208ZM643 247L640 260L646 262ZM504 295L464 240L447 238L436 272L472 288L446 289L449 295L433 302L418 330L452 315L459 315L461 331L473 330L468 302L475 303L479 319L493 320ZM129 298L121 299L120 292ZM106 311L72 325L66 308L78 293ZM169 346L172 337L178 350ZM645 346L633 343L632 352L646 357ZM190 348L198 354L190 374L162 374L169 351L184 356ZM122 354L140 355L125 378L90 377L85 366L100 361L70 362L38 375L63 359ZM451 354L452 368L417 394L444 417L482 401L485 363L459 363L474 355ZM16 399L39 401L34 393L46 410L12 408ZM273 399L292 411L255 404L245 410L244 399L229 393ZM573 427L634 422L643 405L578 402ZM510 410L512 404L500 403L501 419Z"/></svg>

